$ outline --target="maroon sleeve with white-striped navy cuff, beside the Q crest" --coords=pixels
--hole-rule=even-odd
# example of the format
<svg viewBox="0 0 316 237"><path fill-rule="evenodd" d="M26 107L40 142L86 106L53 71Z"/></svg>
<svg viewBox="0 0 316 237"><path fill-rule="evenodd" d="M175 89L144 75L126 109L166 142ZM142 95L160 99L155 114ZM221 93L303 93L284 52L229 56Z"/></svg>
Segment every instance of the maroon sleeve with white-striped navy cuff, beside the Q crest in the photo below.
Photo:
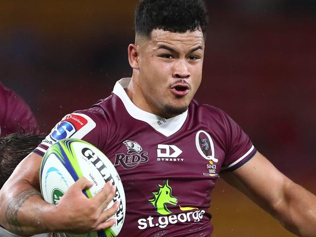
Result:
<svg viewBox="0 0 316 237"><path fill-rule="evenodd" d="M225 112L221 112L227 130L226 157L221 171L233 171L250 160L257 150L241 127Z"/></svg>

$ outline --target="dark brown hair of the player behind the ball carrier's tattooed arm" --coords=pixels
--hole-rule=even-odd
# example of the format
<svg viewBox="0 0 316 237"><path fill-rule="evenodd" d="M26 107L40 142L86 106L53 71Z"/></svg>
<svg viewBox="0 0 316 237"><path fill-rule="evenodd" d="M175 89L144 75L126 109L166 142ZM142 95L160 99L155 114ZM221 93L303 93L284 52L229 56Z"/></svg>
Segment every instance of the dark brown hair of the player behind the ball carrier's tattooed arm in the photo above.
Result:
<svg viewBox="0 0 316 237"><path fill-rule="evenodd" d="M45 135L14 133L0 138L0 189L18 164L45 138ZM20 197L23 198L23 197ZM16 237L0 227L0 236ZM36 237L49 237L40 234Z"/></svg>

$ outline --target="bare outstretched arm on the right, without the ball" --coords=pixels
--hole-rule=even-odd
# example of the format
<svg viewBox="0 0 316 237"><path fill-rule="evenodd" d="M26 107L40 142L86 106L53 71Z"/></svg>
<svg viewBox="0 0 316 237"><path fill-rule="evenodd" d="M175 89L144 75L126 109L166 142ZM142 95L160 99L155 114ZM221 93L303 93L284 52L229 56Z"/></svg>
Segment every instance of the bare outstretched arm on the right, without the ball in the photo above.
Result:
<svg viewBox="0 0 316 237"><path fill-rule="evenodd" d="M292 233L316 237L316 196L284 176L259 152L222 178Z"/></svg>

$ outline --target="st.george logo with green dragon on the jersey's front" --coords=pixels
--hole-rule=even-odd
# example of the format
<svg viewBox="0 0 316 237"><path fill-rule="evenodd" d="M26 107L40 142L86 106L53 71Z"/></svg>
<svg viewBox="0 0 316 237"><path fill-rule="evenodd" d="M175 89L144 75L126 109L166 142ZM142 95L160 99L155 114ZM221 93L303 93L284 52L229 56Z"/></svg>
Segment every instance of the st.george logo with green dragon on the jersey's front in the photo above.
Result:
<svg viewBox="0 0 316 237"><path fill-rule="evenodd" d="M179 205L179 209L182 212L172 214L167 208L168 205L176 206L178 199L172 195L172 188L169 185L169 180L165 180L163 185L157 186L158 191L153 192L154 198L149 199L149 203L153 204L156 213L155 216L148 216L147 218L141 218L138 220L138 228L140 230L159 227L165 228L169 224L176 224L178 222L199 222L203 219L205 210L199 210L197 207L186 206L182 207Z"/></svg>

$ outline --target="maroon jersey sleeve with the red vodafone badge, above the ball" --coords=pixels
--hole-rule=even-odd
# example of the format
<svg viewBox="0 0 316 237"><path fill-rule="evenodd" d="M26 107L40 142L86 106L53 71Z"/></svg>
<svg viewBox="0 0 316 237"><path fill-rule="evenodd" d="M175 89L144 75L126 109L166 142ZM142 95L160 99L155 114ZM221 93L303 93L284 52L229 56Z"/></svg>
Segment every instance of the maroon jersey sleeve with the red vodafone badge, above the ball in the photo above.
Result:
<svg viewBox="0 0 316 237"><path fill-rule="evenodd" d="M98 147L101 128L101 124L92 113L76 111L61 119L33 152L43 156L49 147L65 138L82 139Z"/></svg>

